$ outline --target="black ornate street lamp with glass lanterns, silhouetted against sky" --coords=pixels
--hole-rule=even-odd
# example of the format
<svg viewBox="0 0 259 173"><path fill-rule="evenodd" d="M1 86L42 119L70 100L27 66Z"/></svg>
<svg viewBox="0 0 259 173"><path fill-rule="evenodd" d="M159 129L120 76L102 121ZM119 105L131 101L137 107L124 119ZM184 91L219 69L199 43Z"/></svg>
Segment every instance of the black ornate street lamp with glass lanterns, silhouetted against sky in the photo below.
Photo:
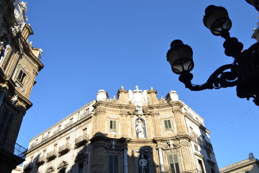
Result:
<svg viewBox="0 0 259 173"><path fill-rule="evenodd" d="M257 3L257 0L254 3ZM259 42L242 51L243 44L238 42L237 38L230 37L229 30L232 22L224 7L208 6L205 9L203 23L213 35L220 35L225 39L223 43L225 54L233 57L234 62L219 67L205 84L194 85L191 83L193 74L190 73L194 67L193 50L181 40L174 40L166 54L172 71L180 74L180 82L183 82L191 91L237 86L238 97L247 98L247 100L252 97L254 103L259 106Z"/></svg>

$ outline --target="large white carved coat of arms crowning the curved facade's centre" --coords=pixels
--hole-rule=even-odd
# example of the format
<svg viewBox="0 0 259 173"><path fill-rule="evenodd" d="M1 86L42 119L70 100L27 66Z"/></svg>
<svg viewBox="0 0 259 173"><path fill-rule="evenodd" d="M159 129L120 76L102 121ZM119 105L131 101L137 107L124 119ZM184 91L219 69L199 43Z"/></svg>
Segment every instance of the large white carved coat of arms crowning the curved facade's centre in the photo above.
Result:
<svg viewBox="0 0 259 173"><path fill-rule="evenodd" d="M143 104L147 103L146 90L142 92L142 90L138 89L138 86L133 91L129 90L129 101L132 101L135 106L143 106Z"/></svg>

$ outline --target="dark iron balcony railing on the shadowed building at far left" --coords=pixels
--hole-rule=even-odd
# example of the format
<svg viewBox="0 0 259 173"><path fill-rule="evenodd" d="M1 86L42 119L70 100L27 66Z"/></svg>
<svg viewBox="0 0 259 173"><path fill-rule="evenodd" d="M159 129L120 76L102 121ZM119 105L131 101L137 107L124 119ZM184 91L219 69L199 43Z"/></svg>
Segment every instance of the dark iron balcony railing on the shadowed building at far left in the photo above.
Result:
<svg viewBox="0 0 259 173"><path fill-rule="evenodd" d="M22 146L10 140L9 138L6 138L6 133L4 134L3 131L0 131L0 139L1 148L25 160L27 152L26 148L23 148Z"/></svg>

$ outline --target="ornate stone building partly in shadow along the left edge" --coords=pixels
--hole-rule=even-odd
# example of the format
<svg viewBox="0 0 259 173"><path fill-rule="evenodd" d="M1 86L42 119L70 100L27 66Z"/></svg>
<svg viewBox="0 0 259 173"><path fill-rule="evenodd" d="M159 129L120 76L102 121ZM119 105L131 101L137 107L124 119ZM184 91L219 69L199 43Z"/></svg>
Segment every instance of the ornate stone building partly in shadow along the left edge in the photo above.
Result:
<svg viewBox="0 0 259 173"><path fill-rule="evenodd" d="M43 68L42 50L28 42L33 30L26 24L27 2L0 1L0 172L8 173L25 159L16 139L35 77Z"/></svg>

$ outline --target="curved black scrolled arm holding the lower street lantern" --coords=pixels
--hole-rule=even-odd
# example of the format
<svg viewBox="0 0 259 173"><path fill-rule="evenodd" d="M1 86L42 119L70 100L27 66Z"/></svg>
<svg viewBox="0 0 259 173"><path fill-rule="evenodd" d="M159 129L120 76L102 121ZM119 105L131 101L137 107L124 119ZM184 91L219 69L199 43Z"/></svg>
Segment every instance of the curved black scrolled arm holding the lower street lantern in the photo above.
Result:
<svg viewBox="0 0 259 173"><path fill-rule="evenodd" d="M220 89L226 87L236 86L239 82L237 75L237 66L236 64L227 64L219 67L216 71L209 77L206 83L202 85L194 85L191 83L191 79L180 80L184 78L187 74L181 74L179 80L185 84L185 87L191 91L201 91L204 89ZM230 71L226 71L229 70ZM226 71L226 72L225 72ZM190 76L191 73L188 74ZM182 76L183 75L183 76ZM192 76L192 74L191 74Z"/></svg>

